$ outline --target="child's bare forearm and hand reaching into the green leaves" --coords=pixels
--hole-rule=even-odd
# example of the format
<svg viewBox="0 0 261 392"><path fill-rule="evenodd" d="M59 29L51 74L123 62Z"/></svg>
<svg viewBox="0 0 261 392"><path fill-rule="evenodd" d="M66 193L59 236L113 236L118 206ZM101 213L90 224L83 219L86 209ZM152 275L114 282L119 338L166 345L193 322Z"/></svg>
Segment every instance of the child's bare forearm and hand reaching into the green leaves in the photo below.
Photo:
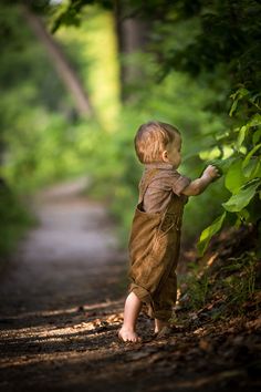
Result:
<svg viewBox="0 0 261 392"><path fill-rule="evenodd" d="M201 177L192 180L181 193L187 196L200 195L207 186L219 177L217 167L209 165L202 173Z"/></svg>

